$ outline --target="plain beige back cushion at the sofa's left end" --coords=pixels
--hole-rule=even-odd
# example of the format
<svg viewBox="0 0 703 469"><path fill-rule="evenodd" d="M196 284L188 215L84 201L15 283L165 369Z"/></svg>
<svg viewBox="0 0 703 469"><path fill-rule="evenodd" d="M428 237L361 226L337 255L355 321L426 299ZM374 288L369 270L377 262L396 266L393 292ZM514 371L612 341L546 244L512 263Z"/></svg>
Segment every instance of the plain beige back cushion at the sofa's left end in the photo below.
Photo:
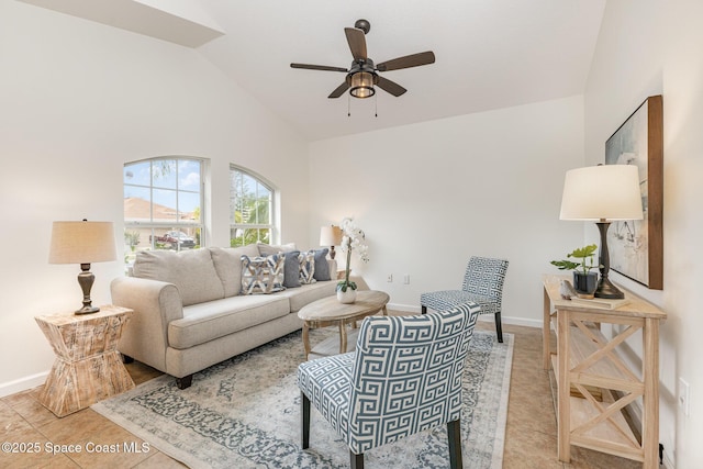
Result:
<svg viewBox="0 0 703 469"><path fill-rule="evenodd" d="M209 249L143 250L137 254L134 277L174 283L183 306L224 298Z"/></svg>

